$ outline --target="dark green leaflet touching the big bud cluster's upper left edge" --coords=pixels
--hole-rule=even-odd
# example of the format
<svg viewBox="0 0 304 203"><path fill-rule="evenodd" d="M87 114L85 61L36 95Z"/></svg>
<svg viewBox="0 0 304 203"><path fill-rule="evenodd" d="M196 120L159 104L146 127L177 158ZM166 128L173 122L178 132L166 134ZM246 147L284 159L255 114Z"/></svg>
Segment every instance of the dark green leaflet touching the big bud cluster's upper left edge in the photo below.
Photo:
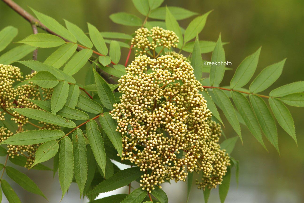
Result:
<svg viewBox="0 0 304 203"><path fill-rule="evenodd" d="M102 102L102 104L108 108L112 109L113 104L116 103L114 94L110 89L108 83L94 70L94 77L97 87L98 96Z"/></svg>

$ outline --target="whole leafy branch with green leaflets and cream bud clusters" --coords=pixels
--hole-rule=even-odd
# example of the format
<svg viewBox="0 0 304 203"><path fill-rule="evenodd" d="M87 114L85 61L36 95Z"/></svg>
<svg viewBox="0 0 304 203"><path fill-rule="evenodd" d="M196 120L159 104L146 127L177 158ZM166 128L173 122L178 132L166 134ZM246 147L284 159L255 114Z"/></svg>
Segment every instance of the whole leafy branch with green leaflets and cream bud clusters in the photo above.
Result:
<svg viewBox="0 0 304 203"><path fill-rule="evenodd" d="M216 42L198 39L211 11L199 14L162 6L164 0L133 0L145 17L112 14L114 23L134 27L134 33L119 33L99 32L90 23L83 31L67 20L63 26L39 11L31 9L35 18L11 0L3 1L33 28L11 50L6 47L18 30L7 26L0 31L0 155L6 156L0 164L1 188L9 202L20 200L7 178L47 197L18 167L6 166L8 161L29 170L58 171L62 198L74 182L92 203L168 203L161 185L174 180L187 182L188 201L193 173L199 173L196 184L205 202L217 187L224 202L233 167L238 177L239 162L230 153L237 139L242 141L240 124L265 149L262 132L279 152L275 119L297 142L285 104L304 106L304 81L273 89L269 96L259 94L279 78L285 59L252 79L258 48L236 70L227 68L220 63L226 62L221 36ZM183 29L178 20L187 18ZM57 50L45 60L37 58L40 48L50 47ZM121 52L128 53L126 59ZM202 53L209 52L206 65ZM30 53L33 60L22 60ZM23 75L20 64L31 74ZM85 85L73 78L81 68L87 70ZM220 85L225 71L234 71L230 86ZM222 136L223 116L238 137ZM53 169L42 164L53 157ZM130 167L121 170L113 160ZM133 181L140 187L132 191ZM126 185L129 194L95 200Z"/></svg>

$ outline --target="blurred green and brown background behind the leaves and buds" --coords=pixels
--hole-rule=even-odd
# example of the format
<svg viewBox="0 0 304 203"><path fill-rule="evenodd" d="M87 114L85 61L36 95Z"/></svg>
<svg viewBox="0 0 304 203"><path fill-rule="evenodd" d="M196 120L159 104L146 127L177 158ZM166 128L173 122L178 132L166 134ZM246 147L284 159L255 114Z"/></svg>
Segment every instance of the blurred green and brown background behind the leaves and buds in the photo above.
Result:
<svg viewBox="0 0 304 203"><path fill-rule="evenodd" d="M100 31L118 31L133 33L135 27L126 27L112 23L109 15L115 12L130 12L140 16L131 0L16 0L16 2L30 11L32 7L40 12L50 15L64 24L63 19L77 24L87 31L86 23L92 23ZM224 46L227 61L232 62L234 70L240 62L262 46L257 73L267 65L287 58L281 77L270 89L284 84L304 79L304 1L303 0L165 0L163 5L180 6L194 12L203 14L209 10L214 11L209 15L206 26L199 38L201 40L216 41L219 33L222 40L230 42ZM29 6L29 7L28 7ZM193 19L179 21L184 28ZM19 33L15 42L32 34L30 24L0 1L0 29L12 25L18 28ZM42 32L39 30L39 32ZM11 44L9 47L14 47ZM39 49L38 60L45 58L54 51L52 49ZM122 59L126 58L127 49L122 49ZM211 54L204 54L203 58L210 59ZM31 58L29 55L28 59ZM122 60L123 61L123 60ZM22 67L27 74L30 70ZM82 68L75 76L78 81L84 82L84 74L87 69ZM229 85L234 71L226 71L222 85ZM257 73L255 75L257 75ZM80 82L80 83L81 83ZM268 94L264 91L263 94ZM266 141L268 151L257 142L250 132L242 126L244 144L237 142L232 156L240 161L240 180L237 185L234 173L226 202L304 202L304 109L289 107L296 127L298 146L290 136L278 126L279 147L281 156L275 148ZM223 117L222 117L223 118ZM226 121L224 121L226 122ZM227 137L234 137L236 133L229 124L224 128ZM223 138L222 138L223 139ZM266 139L264 139L266 140ZM0 160L4 163L4 160ZM52 161L46 163L52 166ZM19 167L19 166L16 166ZM123 168L126 166L119 165ZM61 198L58 175L53 180L51 172L23 170L41 188L50 203L59 202ZM9 178L7 178L9 180ZM10 182L16 189L22 203L47 202L38 195L30 194L21 187ZM136 185L134 184L134 187ZM170 203L186 202L186 184L183 182L163 185L168 194ZM111 192L127 192L127 188ZM110 195L102 194L102 196ZM102 197L101 196L101 197ZM190 193L191 203L204 202L202 191L192 187ZM218 190L212 190L209 202L219 202ZM6 202L4 198L2 202ZM68 194L61 201L87 202L79 199L79 191L76 184L72 183Z"/></svg>

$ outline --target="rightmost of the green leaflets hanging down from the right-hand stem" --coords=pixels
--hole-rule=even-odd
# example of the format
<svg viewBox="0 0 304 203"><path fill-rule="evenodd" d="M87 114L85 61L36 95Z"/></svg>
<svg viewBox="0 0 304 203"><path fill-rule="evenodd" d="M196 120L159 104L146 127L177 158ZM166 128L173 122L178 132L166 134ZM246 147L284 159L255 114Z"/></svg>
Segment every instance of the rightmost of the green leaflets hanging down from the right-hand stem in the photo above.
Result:
<svg viewBox="0 0 304 203"><path fill-rule="evenodd" d="M295 123L287 107L282 101L269 97L269 104L275 118L281 127L295 140L297 143L297 138L295 137Z"/></svg>

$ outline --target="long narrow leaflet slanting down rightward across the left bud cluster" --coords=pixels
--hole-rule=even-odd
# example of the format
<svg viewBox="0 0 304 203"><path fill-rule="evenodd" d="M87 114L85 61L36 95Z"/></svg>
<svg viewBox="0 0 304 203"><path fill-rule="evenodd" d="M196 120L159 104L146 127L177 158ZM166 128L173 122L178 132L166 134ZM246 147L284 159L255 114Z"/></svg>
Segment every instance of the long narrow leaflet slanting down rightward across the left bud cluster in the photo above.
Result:
<svg viewBox="0 0 304 203"><path fill-rule="evenodd" d="M76 124L73 121L66 121L63 117L60 117L55 114L51 114L46 111L42 110L37 110L37 109L27 109L27 108L13 108L10 110L14 110L18 112L19 114L22 114L23 116L38 120L38 121L43 121L46 123L51 123L55 125L59 125L62 127L67 127L67 128L75 128Z"/></svg>

